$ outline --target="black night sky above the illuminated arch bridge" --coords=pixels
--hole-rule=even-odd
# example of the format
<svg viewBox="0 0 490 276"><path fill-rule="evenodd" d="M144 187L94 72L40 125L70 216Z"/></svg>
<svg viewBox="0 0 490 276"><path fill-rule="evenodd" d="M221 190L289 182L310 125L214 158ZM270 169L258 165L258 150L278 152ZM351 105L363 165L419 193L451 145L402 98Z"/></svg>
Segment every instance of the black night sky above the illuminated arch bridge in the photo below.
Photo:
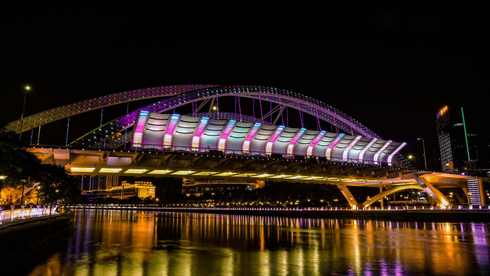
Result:
<svg viewBox="0 0 490 276"><path fill-rule="evenodd" d="M489 6L443 4L11 7L2 15L0 122L20 118L25 84L34 88L26 115L143 87L263 85L407 142L401 153L417 165L424 138L428 166L440 166L435 119L445 105L465 108L468 132L490 134ZM125 110L104 110L103 122ZM66 137L66 124L43 126L41 137ZM100 110L70 124L78 138L100 124Z"/></svg>

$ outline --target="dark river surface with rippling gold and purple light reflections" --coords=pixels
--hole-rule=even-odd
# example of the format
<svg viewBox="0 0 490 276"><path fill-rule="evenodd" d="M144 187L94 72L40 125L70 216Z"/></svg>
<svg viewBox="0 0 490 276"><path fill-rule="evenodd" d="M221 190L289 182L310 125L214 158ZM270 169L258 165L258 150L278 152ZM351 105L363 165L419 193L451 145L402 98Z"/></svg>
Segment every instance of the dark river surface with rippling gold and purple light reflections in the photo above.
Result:
<svg viewBox="0 0 490 276"><path fill-rule="evenodd" d="M68 248L28 275L486 275L490 269L490 223L157 215L78 210Z"/></svg>

